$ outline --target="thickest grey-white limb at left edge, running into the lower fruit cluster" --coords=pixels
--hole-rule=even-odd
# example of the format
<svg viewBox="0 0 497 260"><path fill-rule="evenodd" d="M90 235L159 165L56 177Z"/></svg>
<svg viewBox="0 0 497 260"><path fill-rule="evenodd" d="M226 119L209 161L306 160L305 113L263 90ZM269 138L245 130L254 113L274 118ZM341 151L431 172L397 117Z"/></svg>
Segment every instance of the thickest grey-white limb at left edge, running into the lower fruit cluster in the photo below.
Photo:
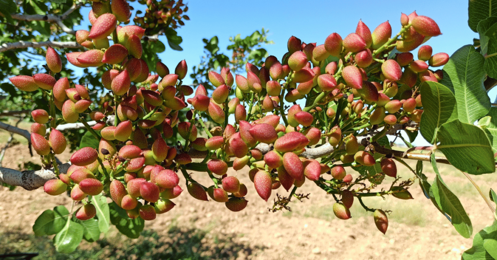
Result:
<svg viewBox="0 0 497 260"><path fill-rule="evenodd" d="M59 165L60 173L67 173L70 164ZM45 182L57 178L54 169L42 169L38 171L22 171L0 167L0 182L13 186L21 186L27 190L37 189Z"/></svg>

